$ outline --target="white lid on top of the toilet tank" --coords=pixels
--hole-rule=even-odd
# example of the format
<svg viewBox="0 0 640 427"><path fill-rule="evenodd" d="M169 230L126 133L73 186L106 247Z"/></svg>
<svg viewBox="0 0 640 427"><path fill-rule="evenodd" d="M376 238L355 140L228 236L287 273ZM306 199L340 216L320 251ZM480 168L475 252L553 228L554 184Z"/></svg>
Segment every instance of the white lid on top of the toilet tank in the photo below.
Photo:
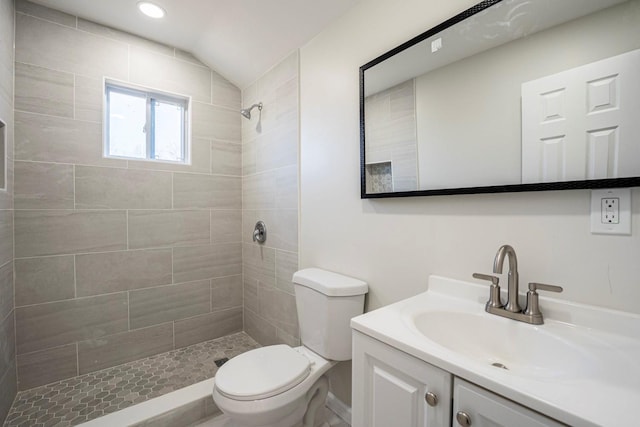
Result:
<svg viewBox="0 0 640 427"><path fill-rule="evenodd" d="M369 286L362 280L320 268L305 268L293 274L293 283L331 297L366 294Z"/></svg>

